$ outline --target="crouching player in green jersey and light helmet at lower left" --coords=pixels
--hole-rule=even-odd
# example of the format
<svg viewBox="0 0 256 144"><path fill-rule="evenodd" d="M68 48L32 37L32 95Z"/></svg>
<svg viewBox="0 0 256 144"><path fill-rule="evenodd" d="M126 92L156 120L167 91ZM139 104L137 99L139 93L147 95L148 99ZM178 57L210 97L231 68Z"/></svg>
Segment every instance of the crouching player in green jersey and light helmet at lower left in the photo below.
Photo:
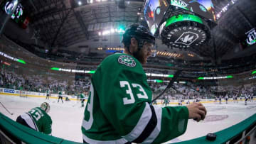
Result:
<svg viewBox="0 0 256 144"><path fill-rule="evenodd" d="M28 128L32 128L33 130L51 135L51 125L53 122L48 115L49 111L50 105L47 102L43 102L40 107L31 109L31 111L18 116L16 122Z"/></svg>

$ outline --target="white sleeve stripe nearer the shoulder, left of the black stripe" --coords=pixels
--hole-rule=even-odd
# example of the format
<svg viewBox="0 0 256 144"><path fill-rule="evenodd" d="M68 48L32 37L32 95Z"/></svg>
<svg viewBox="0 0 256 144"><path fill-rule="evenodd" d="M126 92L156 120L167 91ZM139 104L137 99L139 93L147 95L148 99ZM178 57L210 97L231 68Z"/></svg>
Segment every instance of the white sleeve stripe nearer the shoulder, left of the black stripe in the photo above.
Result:
<svg viewBox="0 0 256 144"><path fill-rule="evenodd" d="M146 103L146 106L142 112L142 116L139 118L137 125L133 128L133 130L128 135L125 135L124 138L129 141L133 141L136 138L138 138L139 135L141 135L144 129L146 128L146 125L149 123L151 116L152 116L152 111L150 109L149 104Z"/></svg>

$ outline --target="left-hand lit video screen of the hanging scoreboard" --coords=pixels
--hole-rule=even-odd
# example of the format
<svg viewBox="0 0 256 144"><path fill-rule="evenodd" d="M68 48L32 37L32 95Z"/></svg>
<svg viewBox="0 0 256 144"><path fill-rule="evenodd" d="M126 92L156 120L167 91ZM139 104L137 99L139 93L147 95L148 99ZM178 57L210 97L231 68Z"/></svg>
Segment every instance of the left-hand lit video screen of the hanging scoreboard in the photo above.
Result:
<svg viewBox="0 0 256 144"><path fill-rule="evenodd" d="M153 35L156 33L168 8L169 3L166 0L146 0L144 5L144 17Z"/></svg>

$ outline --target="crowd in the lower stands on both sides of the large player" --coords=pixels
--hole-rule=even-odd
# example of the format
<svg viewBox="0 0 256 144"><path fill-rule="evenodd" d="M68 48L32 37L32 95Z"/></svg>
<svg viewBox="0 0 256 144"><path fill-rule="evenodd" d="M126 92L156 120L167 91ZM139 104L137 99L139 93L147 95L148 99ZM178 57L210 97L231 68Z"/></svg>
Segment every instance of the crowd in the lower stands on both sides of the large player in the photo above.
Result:
<svg viewBox="0 0 256 144"><path fill-rule="evenodd" d="M36 73L36 72L35 72ZM155 72L157 73L157 72ZM149 81L153 96L157 96L166 88L166 82ZM90 90L90 77L73 76L73 79L67 77L54 77L53 74L17 74L15 70L1 68L0 87L7 89L22 89L31 92L46 92L50 89L52 94L58 94L59 91L65 94L73 95L80 92L87 93ZM244 84L240 86L225 85L225 86L205 86L186 82L185 84L175 83L173 88L166 91L164 97L169 99L209 99L219 95L229 96L238 94L247 94L256 92L256 84Z"/></svg>

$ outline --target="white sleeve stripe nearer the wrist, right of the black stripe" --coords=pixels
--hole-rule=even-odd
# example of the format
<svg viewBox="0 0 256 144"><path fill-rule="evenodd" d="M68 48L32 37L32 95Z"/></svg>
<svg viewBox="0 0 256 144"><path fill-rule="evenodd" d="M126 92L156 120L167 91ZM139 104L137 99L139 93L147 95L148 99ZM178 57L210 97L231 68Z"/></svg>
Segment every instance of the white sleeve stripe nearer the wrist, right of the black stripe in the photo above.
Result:
<svg viewBox="0 0 256 144"><path fill-rule="evenodd" d="M144 140L142 143L153 143L153 141L156 139L156 137L159 135L161 131L162 108L160 106L154 106L154 110L156 112L156 118L157 118L156 128L154 128L154 131L152 131L149 137L146 138L146 140Z"/></svg>

